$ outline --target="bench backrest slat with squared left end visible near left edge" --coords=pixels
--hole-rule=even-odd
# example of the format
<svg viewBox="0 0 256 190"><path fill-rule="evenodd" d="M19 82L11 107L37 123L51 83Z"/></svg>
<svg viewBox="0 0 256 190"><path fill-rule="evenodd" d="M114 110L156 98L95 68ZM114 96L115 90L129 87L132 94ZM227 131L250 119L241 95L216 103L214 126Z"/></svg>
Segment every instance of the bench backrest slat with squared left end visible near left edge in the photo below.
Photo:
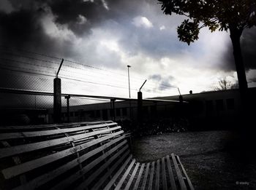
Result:
<svg viewBox="0 0 256 190"><path fill-rule="evenodd" d="M94 146L95 144L100 143L104 140L114 138L118 135L121 135L121 133L123 133L123 131L119 131L119 132L113 133L113 135L108 135L103 138L98 138L96 140L91 140L88 143L84 143L82 145L75 146L70 149L66 149L64 151L59 151L59 152L56 152L55 154L50 154L46 157L34 159L34 160L31 160L30 162L25 162L21 165L15 165L13 167L9 167L9 168L2 170L1 173L4 175L4 178L6 178L6 179L12 178L16 175L20 175L21 173L26 173L29 170L33 170L37 167L41 167L42 165L46 165L46 164L49 164L50 162L54 162L58 159L67 157L71 154L74 154L76 151L82 151L83 149L89 148L90 146ZM121 138L124 138L124 135L121 136Z"/></svg>

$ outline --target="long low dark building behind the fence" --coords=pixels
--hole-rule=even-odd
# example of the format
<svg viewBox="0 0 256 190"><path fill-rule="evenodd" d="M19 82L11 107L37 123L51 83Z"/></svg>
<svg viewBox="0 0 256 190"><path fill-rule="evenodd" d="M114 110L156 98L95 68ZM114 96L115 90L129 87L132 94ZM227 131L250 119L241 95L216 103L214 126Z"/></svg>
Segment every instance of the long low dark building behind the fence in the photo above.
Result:
<svg viewBox="0 0 256 190"><path fill-rule="evenodd" d="M256 88L250 89L254 98ZM175 116L186 116L196 127L210 129L212 127L232 127L241 110L240 93L238 90L223 90L182 95L187 103L167 103L143 101L143 120L170 119ZM179 96L158 97L161 100L179 100ZM252 99L255 103L255 100ZM138 118L137 100L115 102L116 121ZM114 120L110 103L97 103L82 106L70 106L70 122ZM53 111L49 111L51 114ZM67 122L67 108L62 108L62 119Z"/></svg>

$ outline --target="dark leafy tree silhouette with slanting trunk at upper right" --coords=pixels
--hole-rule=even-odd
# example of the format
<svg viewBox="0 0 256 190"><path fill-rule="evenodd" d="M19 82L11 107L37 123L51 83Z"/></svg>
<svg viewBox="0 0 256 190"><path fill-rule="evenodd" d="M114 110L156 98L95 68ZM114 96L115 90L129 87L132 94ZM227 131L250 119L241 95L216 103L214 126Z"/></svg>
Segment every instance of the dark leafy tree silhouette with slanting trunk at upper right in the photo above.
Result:
<svg viewBox="0 0 256 190"><path fill-rule="evenodd" d="M245 28L256 25L255 0L158 0L166 15L188 17L178 26L180 41L190 44L198 39L201 28L211 32L230 31L241 99L246 100L247 81L241 54L240 37Z"/></svg>

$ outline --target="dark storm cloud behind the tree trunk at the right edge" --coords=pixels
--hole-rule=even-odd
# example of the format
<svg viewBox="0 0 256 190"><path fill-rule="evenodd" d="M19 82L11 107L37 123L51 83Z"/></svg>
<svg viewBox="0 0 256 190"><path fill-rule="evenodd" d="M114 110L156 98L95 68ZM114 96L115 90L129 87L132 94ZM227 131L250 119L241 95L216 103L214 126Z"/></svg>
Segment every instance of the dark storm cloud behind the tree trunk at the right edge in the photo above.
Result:
<svg viewBox="0 0 256 190"><path fill-rule="evenodd" d="M233 58L233 46L230 40L227 52L224 52L223 70L236 71L235 60ZM241 51L246 70L256 68L256 27L244 31L241 36Z"/></svg>

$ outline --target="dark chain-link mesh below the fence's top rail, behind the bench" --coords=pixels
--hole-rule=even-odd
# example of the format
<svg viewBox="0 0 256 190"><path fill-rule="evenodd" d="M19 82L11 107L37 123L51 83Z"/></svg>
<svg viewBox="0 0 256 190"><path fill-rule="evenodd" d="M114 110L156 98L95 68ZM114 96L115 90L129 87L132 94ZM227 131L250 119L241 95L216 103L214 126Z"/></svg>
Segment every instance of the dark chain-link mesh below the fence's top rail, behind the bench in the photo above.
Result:
<svg viewBox="0 0 256 190"><path fill-rule="evenodd" d="M0 88L1 125L54 123L53 92ZM113 120L127 130L141 134L184 130L181 105L160 100L143 100L138 116L138 100L91 97L90 95L61 95L61 122L92 122ZM140 117L140 118L138 118ZM182 125L179 126L179 125Z"/></svg>

